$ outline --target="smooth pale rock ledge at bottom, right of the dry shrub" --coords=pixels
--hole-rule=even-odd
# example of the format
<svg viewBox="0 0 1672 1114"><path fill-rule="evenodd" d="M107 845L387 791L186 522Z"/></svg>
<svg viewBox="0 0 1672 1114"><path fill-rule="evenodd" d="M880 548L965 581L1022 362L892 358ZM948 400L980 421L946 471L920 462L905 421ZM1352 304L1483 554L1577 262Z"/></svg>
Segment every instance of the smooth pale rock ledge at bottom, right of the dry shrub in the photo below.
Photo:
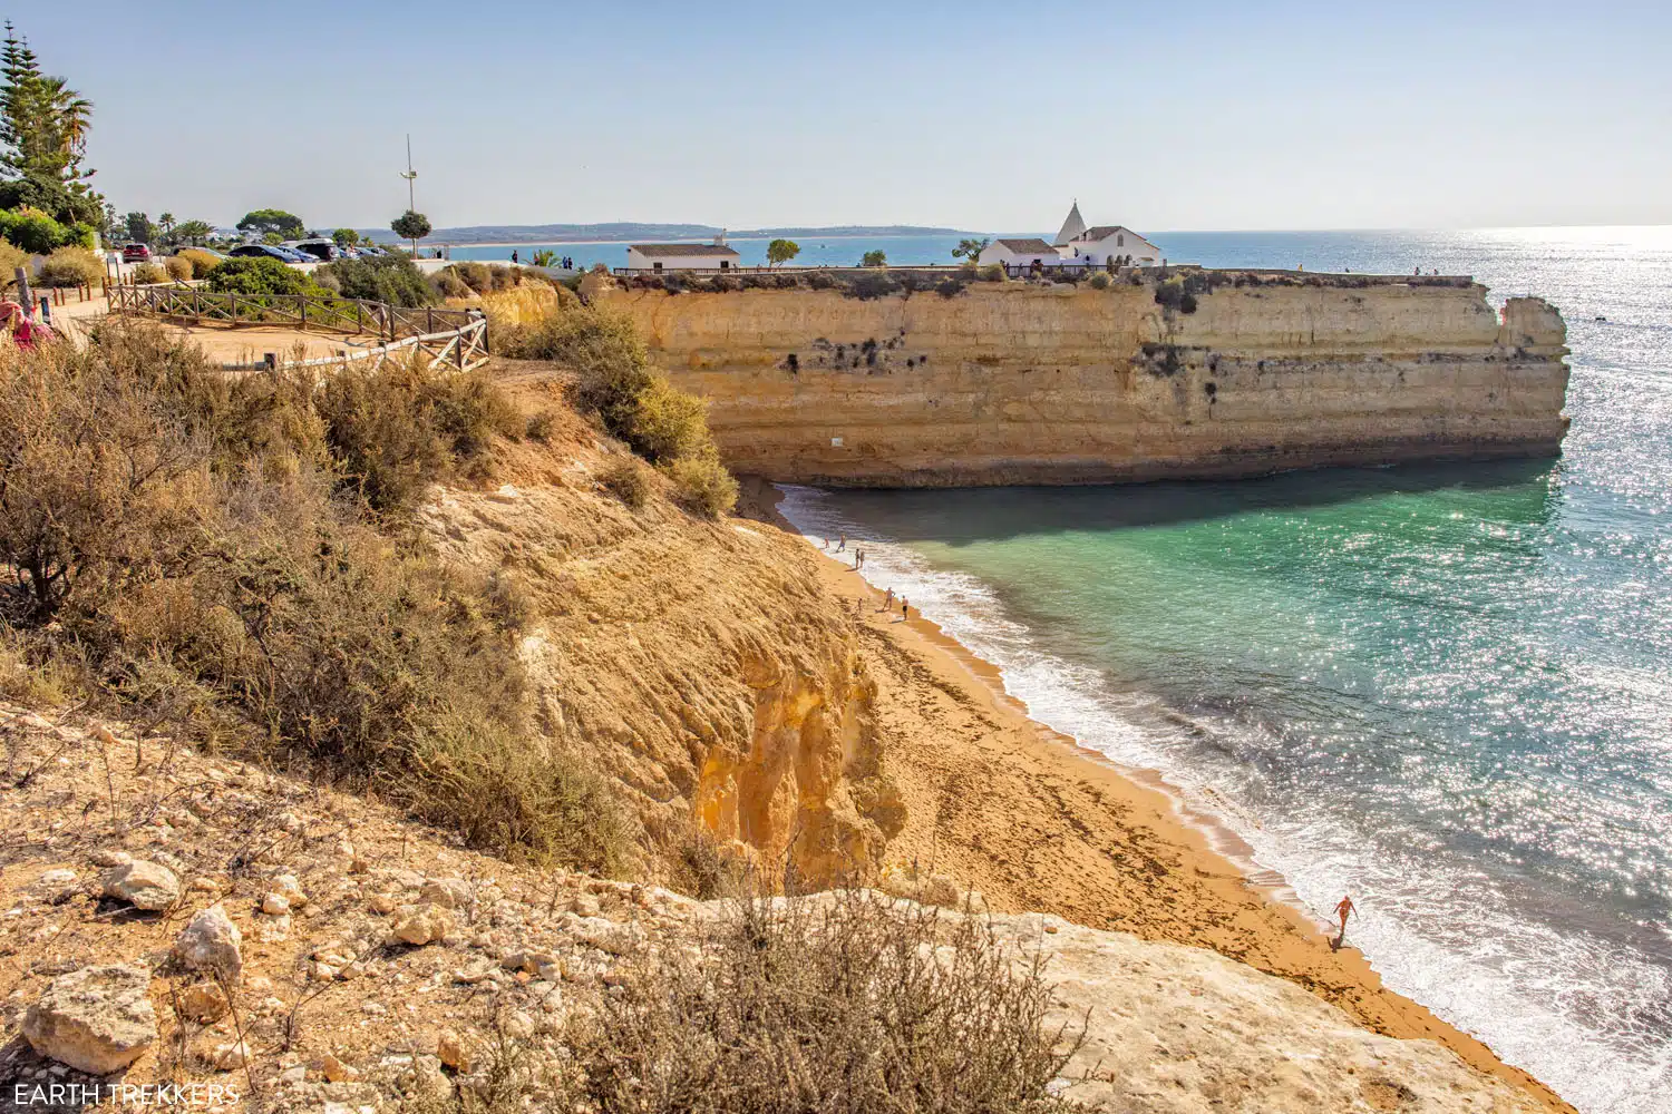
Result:
<svg viewBox="0 0 1672 1114"><path fill-rule="evenodd" d="M1496 1114L1547 1109L1475 1072L1433 1041L1353 1024L1286 979L1216 952L1082 929L1057 917L991 917L995 934L1053 984L1050 1030L1085 1027L1063 1096L1124 1114Z"/></svg>

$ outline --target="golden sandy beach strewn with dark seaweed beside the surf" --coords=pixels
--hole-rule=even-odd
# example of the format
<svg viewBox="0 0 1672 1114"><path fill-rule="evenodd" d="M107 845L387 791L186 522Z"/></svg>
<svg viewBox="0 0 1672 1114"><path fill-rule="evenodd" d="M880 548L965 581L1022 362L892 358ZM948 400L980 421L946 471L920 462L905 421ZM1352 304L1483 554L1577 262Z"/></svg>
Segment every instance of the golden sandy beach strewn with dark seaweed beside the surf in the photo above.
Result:
<svg viewBox="0 0 1672 1114"><path fill-rule="evenodd" d="M744 486L762 518L806 541L779 513L777 488L754 478ZM891 858L928 863L980 890L995 910L1209 947L1299 984L1366 1029L1436 1041L1547 1109L1573 1111L1480 1039L1386 989L1351 939L1333 949L1281 875L1254 863L1227 825L1185 802L1160 772L1122 767L1032 720L998 666L930 620L881 615L883 593L851 565L808 548L826 591L846 606L868 601L858 626L874 651L868 666L879 673L879 718L906 743L891 748L890 765L911 818L890 843ZM923 713L925 701L941 705L936 715ZM983 797L1003 812L981 808Z"/></svg>

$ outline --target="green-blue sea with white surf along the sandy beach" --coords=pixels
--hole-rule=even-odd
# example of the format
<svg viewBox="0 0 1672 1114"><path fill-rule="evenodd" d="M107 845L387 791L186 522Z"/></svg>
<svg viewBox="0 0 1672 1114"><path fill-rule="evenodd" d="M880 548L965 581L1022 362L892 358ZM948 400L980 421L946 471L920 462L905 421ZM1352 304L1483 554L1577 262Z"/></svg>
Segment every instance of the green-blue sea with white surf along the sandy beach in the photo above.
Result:
<svg viewBox="0 0 1672 1114"><path fill-rule="evenodd" d="M1388 985L1582 1111L1672 1111L1672 229L1152 239L1550 299L1562 456L782 509L1319 920L1351 894Z"/></svg>

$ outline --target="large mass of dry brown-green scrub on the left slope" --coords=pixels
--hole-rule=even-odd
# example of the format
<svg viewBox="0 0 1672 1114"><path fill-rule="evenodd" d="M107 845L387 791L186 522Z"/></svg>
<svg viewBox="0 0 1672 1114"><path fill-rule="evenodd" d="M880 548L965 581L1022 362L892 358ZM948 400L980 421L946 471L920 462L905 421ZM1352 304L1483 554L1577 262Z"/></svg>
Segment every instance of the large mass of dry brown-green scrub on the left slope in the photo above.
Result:
<svg viewBox="0 0 1672 1114"><path fill-rule="evenodd" d="M334 496L366 458L343 451L344 399L423 431L440 474L480 438L487 387L354 367L314 386L229 381L119 319L85 351L0 361L5 645L33 670L74 655L92 700L313 760L473 847L615 870L632 828L610 783L528 745L507 630L527 608Z"/></svg>

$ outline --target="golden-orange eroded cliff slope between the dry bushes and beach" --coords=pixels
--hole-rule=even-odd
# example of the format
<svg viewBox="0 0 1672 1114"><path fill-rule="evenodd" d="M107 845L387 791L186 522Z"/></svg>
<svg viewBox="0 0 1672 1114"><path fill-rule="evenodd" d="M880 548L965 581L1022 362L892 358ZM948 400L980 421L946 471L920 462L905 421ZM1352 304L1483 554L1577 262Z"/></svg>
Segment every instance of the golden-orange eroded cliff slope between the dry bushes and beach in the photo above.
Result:
<svg viewBox="0 0 1672 1114"><path fill-rule="evenodd" d="M903 815L853 623L811 556L662 498L629 508L599 483L620 449L550 413L548 444L507 449L510 483L438 489L423 509L443 556L498 570L535 603L522 656L545 737L528 745L584 750L670 855L696 817L774 879L786 863L814 882L873 865Z"/></svg>

